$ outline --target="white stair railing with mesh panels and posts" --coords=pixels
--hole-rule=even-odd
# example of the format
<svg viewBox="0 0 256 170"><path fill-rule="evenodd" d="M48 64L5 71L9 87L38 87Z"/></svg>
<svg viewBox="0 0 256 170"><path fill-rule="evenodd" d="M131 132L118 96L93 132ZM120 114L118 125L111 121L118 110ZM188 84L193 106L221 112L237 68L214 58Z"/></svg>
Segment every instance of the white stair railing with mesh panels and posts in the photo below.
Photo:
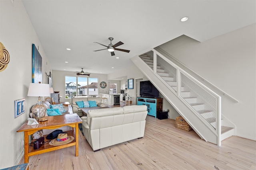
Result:
<svg viewBox="0 0 256 170"><path fill-rule="evenodd" d="M139 56L156 76L221 140L221 97L152 49Z"/></svg>

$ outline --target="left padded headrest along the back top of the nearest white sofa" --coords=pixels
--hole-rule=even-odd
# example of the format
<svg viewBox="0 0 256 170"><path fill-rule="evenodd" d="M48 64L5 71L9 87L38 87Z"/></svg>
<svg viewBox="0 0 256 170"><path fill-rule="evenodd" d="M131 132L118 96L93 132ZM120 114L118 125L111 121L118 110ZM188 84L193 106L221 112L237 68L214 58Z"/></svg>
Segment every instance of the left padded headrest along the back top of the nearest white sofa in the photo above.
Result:
<svg viewBox="0 0 256 170"><path fill-rule="evenodd" d="M124 110L122 107L110 107L104 109L92 109L88 111L87 114L87 126L86 128L90 127L90 121L92 117L99 117L99 116L108 116L108 115L117 115L123 114Z"/></svg>

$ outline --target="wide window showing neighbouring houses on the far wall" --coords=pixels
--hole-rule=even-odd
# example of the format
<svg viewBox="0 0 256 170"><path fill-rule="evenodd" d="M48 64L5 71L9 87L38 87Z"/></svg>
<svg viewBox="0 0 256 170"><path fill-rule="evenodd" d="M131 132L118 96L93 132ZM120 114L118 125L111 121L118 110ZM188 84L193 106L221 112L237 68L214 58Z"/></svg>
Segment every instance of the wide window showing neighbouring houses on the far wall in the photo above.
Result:
<svg viewBox="0 0 256 170"><path fill-rule="evenodd" d="M65 76L65 98L98 97L98 78Z"/></svg>

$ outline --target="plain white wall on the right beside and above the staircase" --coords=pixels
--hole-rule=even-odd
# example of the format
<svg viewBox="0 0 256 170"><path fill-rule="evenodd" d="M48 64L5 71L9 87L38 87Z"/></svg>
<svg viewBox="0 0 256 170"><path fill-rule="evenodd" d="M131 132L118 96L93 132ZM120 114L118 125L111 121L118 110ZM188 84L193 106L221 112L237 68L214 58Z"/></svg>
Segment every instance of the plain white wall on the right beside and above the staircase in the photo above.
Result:
<svg viewBox="0 0 256 170"><path fill-rule="evenodd" d="M239 103L222 95L222 114L236 135L256 140L256 24L198 42L178 37L159 47ZM167 57L167 56L166 56Z"/></svg>

